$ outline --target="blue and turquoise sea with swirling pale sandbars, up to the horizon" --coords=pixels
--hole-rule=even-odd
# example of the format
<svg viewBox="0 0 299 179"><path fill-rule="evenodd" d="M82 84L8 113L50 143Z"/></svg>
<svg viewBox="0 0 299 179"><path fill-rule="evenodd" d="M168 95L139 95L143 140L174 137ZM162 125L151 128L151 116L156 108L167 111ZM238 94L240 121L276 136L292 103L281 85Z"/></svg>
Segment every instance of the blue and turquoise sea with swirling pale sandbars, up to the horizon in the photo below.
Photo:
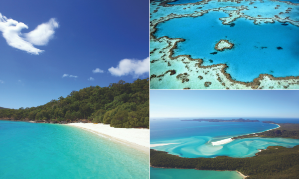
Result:
<svg viewBox="0 0 299 179"><path fill-rule="evenodd" d="M194 118L192 118L194 119ZM217 118L232 119L232 118ZM247 119L247 118L246 118ZM271 120L274 122L299 123L299 119L271 119L254 118L260 121ZM211 142L223 139L257 133L278 127L275 124L262 122L238 123L238 122L198 122L179 120L150 120L150 144L167 144L151 147L159 151L169 152L181 157L212 158L216 156L252 157L259 152L258 149L266 149L268 146L294 147L299 145L299 140L284 138L249 138L236 139L222 145L212 145Z"/></svg>

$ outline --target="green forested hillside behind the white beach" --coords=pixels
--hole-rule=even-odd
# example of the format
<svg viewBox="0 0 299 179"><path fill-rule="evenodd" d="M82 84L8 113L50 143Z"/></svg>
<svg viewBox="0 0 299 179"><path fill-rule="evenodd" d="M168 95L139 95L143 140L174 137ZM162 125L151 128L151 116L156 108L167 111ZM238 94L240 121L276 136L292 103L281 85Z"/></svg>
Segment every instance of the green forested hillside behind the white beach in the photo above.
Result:
<svg viewBox="0 0 299 179"><path fill-rule="evenodd" d="M73 90L65 98L61 96L37 107L0 109L0 119L68 122L88 119L111 127L149 128L149 78Z"/></svg>

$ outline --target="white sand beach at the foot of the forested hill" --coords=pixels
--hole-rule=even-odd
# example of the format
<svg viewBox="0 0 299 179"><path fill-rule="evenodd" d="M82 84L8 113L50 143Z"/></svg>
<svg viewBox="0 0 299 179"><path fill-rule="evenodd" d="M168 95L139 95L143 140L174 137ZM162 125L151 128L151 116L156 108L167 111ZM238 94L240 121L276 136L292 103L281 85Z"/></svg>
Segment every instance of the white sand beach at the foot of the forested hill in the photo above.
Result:
<svg viewBox="0 0 299 179"><path fill-rule="evenodd" d="M79 127L110 138L113 141L125 143L126 145L142 151L149 155L149 129L125 129L110 127L109 124L92 123L70 123L70 126Z"/></svg>

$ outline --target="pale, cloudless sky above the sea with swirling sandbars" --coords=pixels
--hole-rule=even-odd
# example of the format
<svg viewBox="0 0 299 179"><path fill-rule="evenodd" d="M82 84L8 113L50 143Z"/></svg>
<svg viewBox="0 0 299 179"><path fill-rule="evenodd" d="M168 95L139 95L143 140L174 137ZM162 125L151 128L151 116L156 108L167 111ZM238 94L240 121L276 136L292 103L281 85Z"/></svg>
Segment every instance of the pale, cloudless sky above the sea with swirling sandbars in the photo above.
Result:
<svg viewBox="0 0 299 179"><path fill-rule="evenodd" d="M298 109L299 90L150 90L150 118L299 118Z"/></svg>

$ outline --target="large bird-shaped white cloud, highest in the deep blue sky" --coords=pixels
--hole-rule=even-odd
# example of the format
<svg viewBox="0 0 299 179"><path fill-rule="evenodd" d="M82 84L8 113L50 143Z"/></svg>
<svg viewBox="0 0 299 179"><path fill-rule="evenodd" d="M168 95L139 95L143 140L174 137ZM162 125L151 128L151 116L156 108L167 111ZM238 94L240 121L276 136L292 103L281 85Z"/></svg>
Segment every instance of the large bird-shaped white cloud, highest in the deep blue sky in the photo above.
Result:
<svg viewBox="0 0 299 179"><path fill-rule="evenodd" d="M43 50L39 50L33 45L46 45L53 38L54 30L57 27L58 22L51 18L49 22L38 25L31 32L22 34L21 30L27 29L27 25L13 19L7 19L0 13L0 31L7 44L35 55L42 53Z"/></svg>

